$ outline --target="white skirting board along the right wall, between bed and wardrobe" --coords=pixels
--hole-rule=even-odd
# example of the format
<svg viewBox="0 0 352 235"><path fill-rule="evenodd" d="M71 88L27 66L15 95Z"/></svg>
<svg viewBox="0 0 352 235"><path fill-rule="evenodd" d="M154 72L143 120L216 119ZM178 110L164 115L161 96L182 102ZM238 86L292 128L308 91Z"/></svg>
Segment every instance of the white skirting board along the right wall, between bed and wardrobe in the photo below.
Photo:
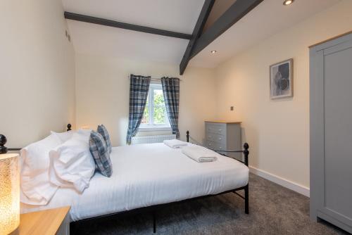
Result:
<svg viewBox="0 0 352 235"><path fill-rule="evenodd" d="M253 174L256 174L260 177L263 177L264 179L268 179L271 182L274 182L276 184L279 184L281 186L284 186L287 189L291 189L293 191L296 191L297 193L301 193L304 196L310 196L310 191L309 188L307 188L306 186L302 186L300 184L296 184L294 182L291 182L287 179L284 179L282 177L278 177L275 174L271 174L269 172L265 172L264 170L260 170L256 167L252 167L251 165L249 166L249 170L250 172L252 172Z"/></svg>

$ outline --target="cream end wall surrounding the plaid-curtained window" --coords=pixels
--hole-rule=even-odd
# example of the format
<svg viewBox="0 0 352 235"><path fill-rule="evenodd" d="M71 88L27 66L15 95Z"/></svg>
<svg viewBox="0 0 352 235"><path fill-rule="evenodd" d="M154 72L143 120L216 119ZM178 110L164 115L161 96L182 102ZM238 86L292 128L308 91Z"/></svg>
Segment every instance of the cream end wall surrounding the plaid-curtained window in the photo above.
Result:
<svg viewBox="0 0 352 235"><path fill-rule="evenodd" d="M104 124L113 146L125 145L128 127L130 74L151 77L179 77L181 138L189 129L200 141L204 120L215 117L215 81L213 70L187 68L179 75L178 65L131 61L77 53L76 56L77 127Z"/></svg>

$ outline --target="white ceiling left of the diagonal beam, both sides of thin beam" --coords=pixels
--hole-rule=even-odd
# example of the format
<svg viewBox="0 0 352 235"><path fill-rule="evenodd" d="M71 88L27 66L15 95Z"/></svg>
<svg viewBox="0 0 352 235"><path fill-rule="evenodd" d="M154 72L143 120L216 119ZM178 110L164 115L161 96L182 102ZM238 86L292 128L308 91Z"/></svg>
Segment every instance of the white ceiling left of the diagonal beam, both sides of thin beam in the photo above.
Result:
<svg viewBox="0 0 352 235"><path fill-rule="evenodd" d="M191 34L204 0L63 0L65 11ZM180 63L188 40L68 20L77 53Z"/></svg>

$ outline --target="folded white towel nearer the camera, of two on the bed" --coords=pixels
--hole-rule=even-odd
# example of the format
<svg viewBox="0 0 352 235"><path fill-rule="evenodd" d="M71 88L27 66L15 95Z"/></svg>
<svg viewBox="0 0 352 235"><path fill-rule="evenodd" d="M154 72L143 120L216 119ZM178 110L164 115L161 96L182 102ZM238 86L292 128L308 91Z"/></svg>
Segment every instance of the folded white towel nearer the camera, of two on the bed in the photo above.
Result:
<svg viewBox="0 0 352 235"><path fill-rule="evenodd" d="M217 160L216 153L202 146L187 146L182 148L182 153L198 163L207 163Z"/></svg>

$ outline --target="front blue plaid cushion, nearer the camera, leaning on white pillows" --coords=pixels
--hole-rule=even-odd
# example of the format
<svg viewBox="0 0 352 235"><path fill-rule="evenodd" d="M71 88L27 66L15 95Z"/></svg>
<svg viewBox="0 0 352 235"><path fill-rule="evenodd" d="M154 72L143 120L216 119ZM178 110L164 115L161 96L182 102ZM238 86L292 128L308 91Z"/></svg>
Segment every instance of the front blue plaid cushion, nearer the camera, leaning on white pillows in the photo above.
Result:
<svg viewBox="0 0 352 235"><path fill-rule="evenodd" d="M111 164L108 146L106 146L103 136L98 132L91 132L89 136L89 150L93 155L99 172L106 177L111 177L111 174L113 174L113 165Z"/></svg>

